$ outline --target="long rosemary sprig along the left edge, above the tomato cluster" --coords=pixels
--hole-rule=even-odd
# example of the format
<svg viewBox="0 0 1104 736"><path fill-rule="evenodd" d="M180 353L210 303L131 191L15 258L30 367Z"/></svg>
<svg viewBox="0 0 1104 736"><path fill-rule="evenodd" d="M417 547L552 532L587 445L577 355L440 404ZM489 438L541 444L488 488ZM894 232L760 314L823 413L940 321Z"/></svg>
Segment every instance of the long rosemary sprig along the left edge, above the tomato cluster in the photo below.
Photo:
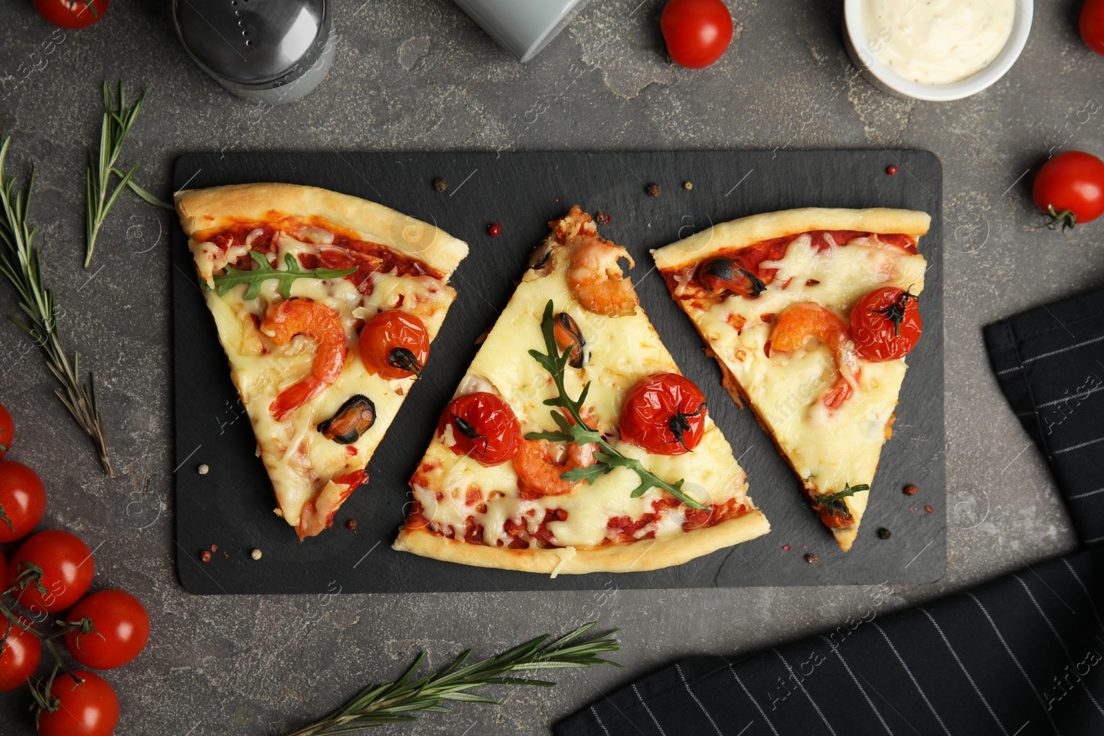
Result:
<svg viewBox="0 0 1104 736"><path fill-rule="evenodd" d="M65 353L61 331L57 329L57 305L54 301L54 292L47 289L42 280L42 259L39 249L34 247L36 231L28 225L26 213L31 206L34 172L31 172L25 190L15 186L15 178L9 178L4 172L4 160L10 143L9 136L0 145L0 241L6 246L0 252L0 274L3 274L15 288L19 307L26 316L26 321L9 319L26 332L45 353L46 365L62 384L62 387L54 390L54 393L62 399L81 428L92 437L104 472L114 478L112 461L107 457L104 423L99 409L96 408L93 376L89 373L87 384L83 383L79 355L74 352L71 363Z"/></svg>

